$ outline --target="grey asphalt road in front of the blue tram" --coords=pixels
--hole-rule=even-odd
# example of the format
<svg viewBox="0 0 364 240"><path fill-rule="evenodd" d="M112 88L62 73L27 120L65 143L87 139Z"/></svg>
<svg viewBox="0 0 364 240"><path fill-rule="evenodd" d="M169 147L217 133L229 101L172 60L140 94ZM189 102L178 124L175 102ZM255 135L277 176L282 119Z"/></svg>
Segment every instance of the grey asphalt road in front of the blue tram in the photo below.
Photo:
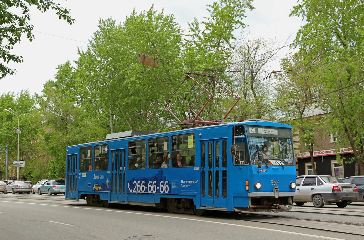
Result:
<svg viewBox="0 0 364 240"><path fill-rule="evenodd" d="M349 208L348 208L349 207ZM269 213L214 212L204 217L168 213L151 207L113 205L109 208L88 207L84 200L66 201L64 196L5 195L0 194L0 240L49 240L49 239L146 239L150 236L162 239L353 239L362 240L363 236L341 232L323 231L291 225L294 218L313 218L329 221L333 216L363 221L364 204L348 206L359 216L340 215L339 208L329 206L310 213L310 207L293 208L295 212L276 213L284 225L266 223ZM303 209L303 210L302 210ZM338 210L337 214L325 214ZM297 211L296 211L297 210ZM307 210L307 211L306 211ZM317 209L314 209L315 211ZM300 212L302 211L302 212ZM361 212L363 211L363 212ZM273 214L273 213L272 213ZM362 215L362 216L360 216ZM329 217L331 216L331 217ZM299 220L294 220L299 223ZM297 222L298 221L298 222ZM343 229L345 232L345 229ZM133 237L141 236L141 237ZM144 237L142 237L144 236ZM130 238L132 237L132 238Z"/></svg>

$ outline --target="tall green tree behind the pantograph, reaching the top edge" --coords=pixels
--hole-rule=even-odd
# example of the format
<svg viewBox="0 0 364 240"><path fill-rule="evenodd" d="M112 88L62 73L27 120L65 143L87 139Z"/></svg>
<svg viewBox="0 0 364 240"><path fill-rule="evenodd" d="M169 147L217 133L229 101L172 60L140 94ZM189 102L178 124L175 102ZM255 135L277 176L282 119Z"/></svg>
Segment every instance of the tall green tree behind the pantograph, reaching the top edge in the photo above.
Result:
<svg viewBox="0 0 364 240"><path fill-rule="evenodd" d="M207 5L207 11L210 16L204 17L204 21L199 24L195 18L189 24L189 34L185 37L183 49L183 65L185 72L207 73L217 77L218 81L228 88L233 87L233 80L225 73L225 66L231 64L232 52L235 48L233 45L237 38L234 31L243 29L246 24L242 22L245 12L253 10L252 1L250 0L222 0ZM203 27L201 29L201 27ZM205 82L207 82L205 80ZM213 87L217 87L212 82ZM203 89L196 84L190 84L182 88L181 95L194 91L187 97L181 98L181 103L186 107L180 110L183 119L194 117L187 109L191 107L194 101L202 94ZM205 120L214 121L221 119L226 111L236 101L233 97L223 94L211 88L214 94L201 117ZM209 94L199 98L196 109L201 109ZM187 114L189 114L187 116Z"/></svg>

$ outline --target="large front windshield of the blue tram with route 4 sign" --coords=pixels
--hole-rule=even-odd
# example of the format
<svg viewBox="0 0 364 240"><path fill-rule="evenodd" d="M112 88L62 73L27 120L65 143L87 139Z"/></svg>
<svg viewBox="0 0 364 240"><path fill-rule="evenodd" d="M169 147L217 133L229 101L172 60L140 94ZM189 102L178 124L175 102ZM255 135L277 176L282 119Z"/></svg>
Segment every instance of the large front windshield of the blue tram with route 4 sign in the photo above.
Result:
<svg viewBox="0 0 364 240"><path fill-rule="evenodd" d="M246 126L252 163L294 165L291 129Z"/></svg>

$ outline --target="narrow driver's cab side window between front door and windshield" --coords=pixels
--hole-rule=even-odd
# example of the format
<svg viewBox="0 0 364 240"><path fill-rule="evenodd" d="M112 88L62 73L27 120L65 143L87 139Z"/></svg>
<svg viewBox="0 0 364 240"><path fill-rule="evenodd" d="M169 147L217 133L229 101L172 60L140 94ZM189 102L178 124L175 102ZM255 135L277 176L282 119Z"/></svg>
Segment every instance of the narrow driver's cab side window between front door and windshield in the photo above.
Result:
<svg viewBox="0 0 364 240"><path fill-rule="evenodd" d="M236 147L236 154L233 156L234 165L249 164L248 144L244 126L238 125L233 127L233 145Z"/></svg>

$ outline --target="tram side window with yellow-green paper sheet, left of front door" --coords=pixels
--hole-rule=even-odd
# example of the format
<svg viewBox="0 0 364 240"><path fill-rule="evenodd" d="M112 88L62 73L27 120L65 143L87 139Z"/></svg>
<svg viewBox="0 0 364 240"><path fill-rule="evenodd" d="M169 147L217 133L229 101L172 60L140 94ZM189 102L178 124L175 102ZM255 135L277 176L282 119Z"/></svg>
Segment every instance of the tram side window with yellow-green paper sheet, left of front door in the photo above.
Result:
<svg viewBox="0 0 364 240"><path fill-rule="evenodd" d="M175 135L172 143L172 167L195 166L195 134Z"/></svg>

